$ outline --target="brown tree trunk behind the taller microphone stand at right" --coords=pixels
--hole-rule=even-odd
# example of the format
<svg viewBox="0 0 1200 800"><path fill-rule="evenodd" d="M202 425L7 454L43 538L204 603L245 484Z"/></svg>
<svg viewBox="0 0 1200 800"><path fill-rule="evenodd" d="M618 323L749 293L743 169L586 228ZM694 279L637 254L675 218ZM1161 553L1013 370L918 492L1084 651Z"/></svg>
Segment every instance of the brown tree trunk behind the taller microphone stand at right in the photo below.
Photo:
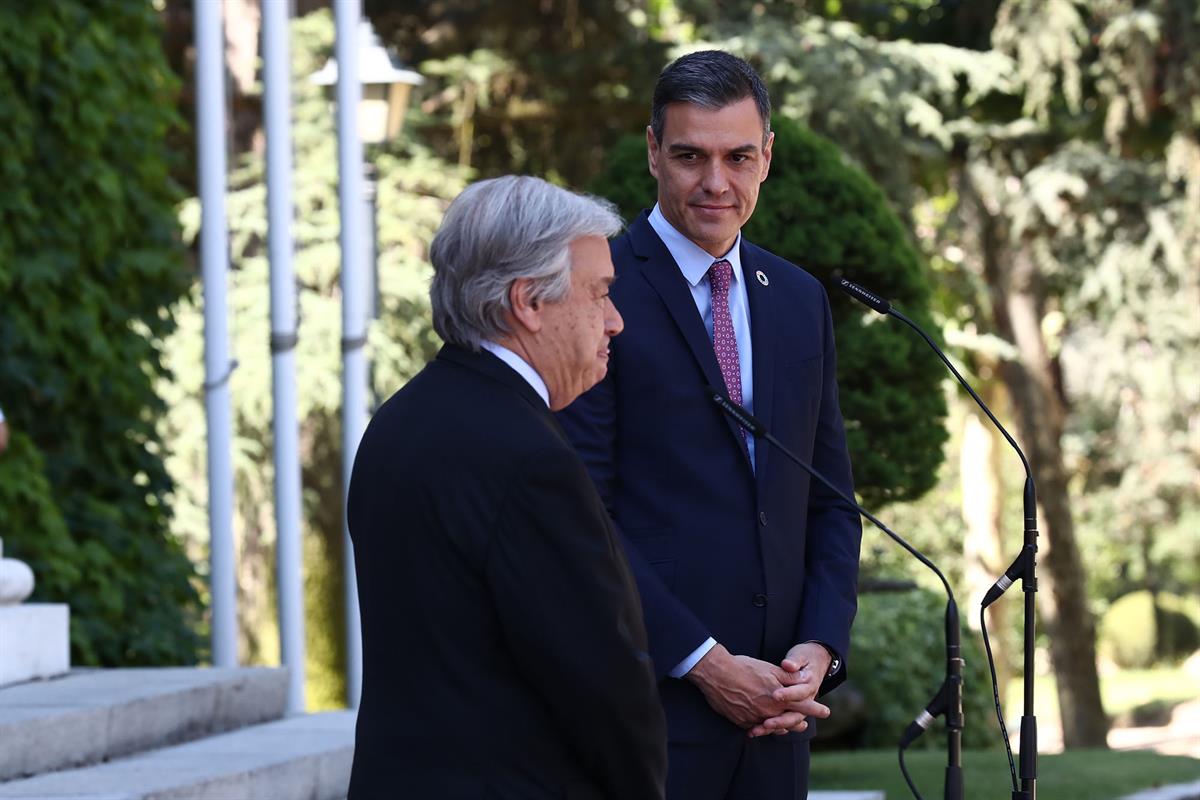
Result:
<svg viewBox="0 0 1200 800"><path fill-rule="evenodd" d="M1018 360L1001 366L1001 377L1038 488L1038 555L1046 567L1038 588L1058 684L1063 746L1105 747L1109 723L1096 669L1096 620L1087 606L1061 446L1066 408L1042 336L1037 266L1027 247L1009 246L998 216L985 211L983 217L990 228L983 240L992 315L997 332L1019 353Z"/></svg>

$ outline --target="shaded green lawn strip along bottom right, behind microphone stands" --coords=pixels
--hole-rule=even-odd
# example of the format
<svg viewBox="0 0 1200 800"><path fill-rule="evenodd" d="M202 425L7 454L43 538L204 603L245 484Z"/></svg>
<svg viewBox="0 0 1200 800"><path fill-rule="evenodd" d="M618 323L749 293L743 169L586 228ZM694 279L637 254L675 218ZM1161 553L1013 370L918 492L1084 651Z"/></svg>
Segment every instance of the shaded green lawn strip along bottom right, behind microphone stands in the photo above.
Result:
<svg viewBox="0 0 1200 800"><path fill-rule="evenodd" d="M910 752L908 772L925 800L942 796L946 753ZM965 795L971 800L1010 800L1008 759L1002 750L962 753ZM883 789L887 800L912 798L894 750L812 754L810 787ZM1038 759L1038 796L1050 800L1112 800L1140 789L1200 780L1200 759L1150 751L1073 750Z"/></svg>

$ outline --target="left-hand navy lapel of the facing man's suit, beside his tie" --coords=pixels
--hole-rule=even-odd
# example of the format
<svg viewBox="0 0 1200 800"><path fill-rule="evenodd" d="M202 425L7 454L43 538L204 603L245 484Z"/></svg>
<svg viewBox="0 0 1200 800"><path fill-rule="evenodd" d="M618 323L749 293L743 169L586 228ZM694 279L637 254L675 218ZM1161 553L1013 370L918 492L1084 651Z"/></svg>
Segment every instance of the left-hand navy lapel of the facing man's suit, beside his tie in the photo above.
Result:
<svg viewBox="0 0 1200 800"><path fill-rule="evenodd" d="M691 350L692 357L696 359L701 371L704 373L707 384L725 390L725 378L721 375L721 368L716 363L713 341L708 338L708 331L704 330L704 320L696 311L696 301L692 300L688 281L683 277L683 272L679 271L679 265L671 257L671 251L662 243L659 235L654 233L654 228L650 227L647 217L648 215L643 211L642 216L629 227L629 239L634 254L640 259L649 261L643 265L641 272L658 293L659 297L662 299L662 303L667 307L667 313L671 314L671 319L674 320L679 332L683 333L683 338L688 342L688 348ZM757 384L755 386L757 391ZM701 387L697 386L696 391L700 392ZM730 435L733 437L742 453L746 456L746 469L749 469L750 459L745 440L742 438L742 429L728 417L725 417L725 422Z"/></svg>

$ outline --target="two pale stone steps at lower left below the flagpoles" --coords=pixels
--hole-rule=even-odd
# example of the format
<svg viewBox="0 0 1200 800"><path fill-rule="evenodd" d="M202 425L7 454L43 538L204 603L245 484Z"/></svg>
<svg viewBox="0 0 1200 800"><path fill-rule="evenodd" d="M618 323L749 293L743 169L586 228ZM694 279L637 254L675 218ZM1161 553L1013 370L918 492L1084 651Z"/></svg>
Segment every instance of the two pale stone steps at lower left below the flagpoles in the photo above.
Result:
<svg viewBox="0 0 1200 800"><path fill-rule="evenodd" d="M354 712L282 669L97 669L0 688L4 800L341 800Z"/></svg>

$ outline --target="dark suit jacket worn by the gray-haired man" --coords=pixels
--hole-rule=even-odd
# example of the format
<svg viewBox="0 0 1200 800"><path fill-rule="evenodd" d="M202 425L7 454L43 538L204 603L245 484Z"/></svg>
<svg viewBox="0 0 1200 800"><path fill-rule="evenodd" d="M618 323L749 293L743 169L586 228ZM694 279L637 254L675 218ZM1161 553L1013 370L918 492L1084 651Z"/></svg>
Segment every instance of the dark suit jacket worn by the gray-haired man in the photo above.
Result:
<svg viewBox="0 0 1200 800"><path fill-rule="evenodd" d="M348 513L364 661L352 800L662 795L636 585L524 379L443 348L367 427Z"/></svg>

